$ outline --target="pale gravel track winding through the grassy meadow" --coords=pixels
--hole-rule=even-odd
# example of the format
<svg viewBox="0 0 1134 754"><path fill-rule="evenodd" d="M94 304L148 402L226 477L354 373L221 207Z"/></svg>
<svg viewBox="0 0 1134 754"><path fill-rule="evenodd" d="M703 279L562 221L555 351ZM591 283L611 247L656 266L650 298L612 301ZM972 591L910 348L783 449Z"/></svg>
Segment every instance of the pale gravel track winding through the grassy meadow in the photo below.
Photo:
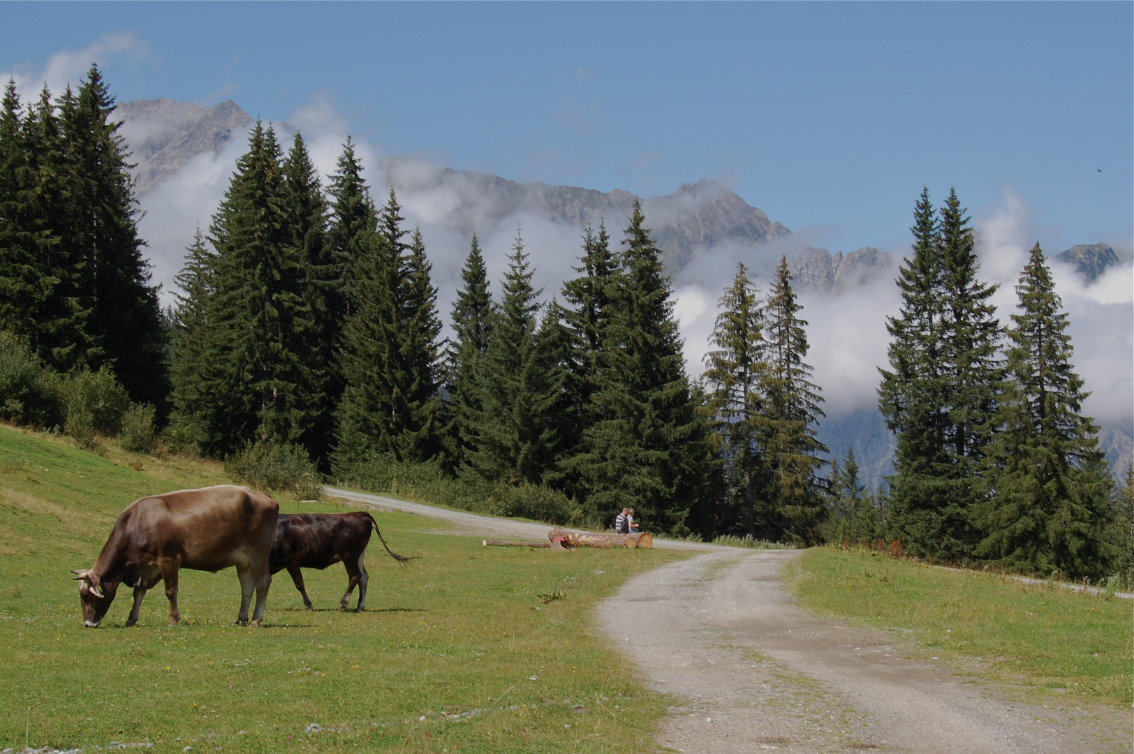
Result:
<svg viewBox="0 0 1134 754"><path fill-rule="evenodd" d="M445 518L472 532L542 537L548 527L328 489L379 508ZM1082 718L1010 703L902 656L887 634L795 607L779 571L793 551L705 550L631 579L600 619L646 684L674 695L657 743L689 754L1129 752L1129 711Z"/></svg>

